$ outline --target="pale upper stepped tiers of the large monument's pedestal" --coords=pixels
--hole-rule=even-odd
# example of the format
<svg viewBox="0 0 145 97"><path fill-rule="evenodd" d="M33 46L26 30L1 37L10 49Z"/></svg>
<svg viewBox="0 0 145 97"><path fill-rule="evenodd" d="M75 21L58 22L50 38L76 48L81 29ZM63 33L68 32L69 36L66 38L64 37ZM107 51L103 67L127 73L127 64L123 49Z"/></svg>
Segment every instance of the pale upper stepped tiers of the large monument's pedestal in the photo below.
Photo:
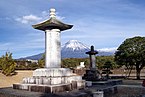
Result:
<svg viewBox="0 0 145 97"><path fill-rule="evenodd" d="M82 77L72 73L69 68L42 68L33 72L33 77L24 78L23 84L58 85L81 81Z"/></svg>

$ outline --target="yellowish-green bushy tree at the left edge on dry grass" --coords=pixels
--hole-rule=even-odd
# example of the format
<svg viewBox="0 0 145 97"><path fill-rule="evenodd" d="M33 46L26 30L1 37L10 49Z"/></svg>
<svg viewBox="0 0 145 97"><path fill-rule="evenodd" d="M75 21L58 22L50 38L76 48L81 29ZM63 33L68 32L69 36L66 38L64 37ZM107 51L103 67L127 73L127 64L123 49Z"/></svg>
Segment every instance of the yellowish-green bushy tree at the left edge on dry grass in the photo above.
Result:
<svg viewBox="0 0 145 97"><path fill-rule="evenodd" d="M6 76L10 76L15 73L16 63L12 59L12 53L6 52L6 54L0 58L0 66L2 73Z"/></svg>

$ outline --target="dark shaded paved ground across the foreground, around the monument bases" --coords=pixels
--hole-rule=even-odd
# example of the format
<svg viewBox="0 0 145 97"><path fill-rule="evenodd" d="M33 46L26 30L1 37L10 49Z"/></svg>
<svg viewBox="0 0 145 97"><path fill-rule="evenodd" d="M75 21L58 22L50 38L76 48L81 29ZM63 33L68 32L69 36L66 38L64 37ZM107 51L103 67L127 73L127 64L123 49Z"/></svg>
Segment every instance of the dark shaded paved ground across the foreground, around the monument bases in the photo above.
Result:
<svg viewBox="0 0 145 97"><path fill-rule="evenodd" d="M107 95L105 97L143 97L143 95L145 95L145 87L142 87L141 83L141 80L123 80L123 85L117 87L118 93L110 94L110 96ZM0 97L93 97L92 92L97 88L99 87L88 87L84 90L46 94L5 87L0 88Z"/></svg>

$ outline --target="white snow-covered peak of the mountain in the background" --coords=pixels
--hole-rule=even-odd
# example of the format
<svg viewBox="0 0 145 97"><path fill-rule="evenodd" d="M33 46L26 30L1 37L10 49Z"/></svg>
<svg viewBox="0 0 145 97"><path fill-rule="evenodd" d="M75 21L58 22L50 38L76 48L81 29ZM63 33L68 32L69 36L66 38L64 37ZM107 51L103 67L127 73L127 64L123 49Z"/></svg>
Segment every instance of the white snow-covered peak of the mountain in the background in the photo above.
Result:
<svg viewBox="0 0 145 97"><path fill-rule="evenodd" d="M78 40L69 40L62 46L62 50L89 50L89 47L79 42Z"/></svg>

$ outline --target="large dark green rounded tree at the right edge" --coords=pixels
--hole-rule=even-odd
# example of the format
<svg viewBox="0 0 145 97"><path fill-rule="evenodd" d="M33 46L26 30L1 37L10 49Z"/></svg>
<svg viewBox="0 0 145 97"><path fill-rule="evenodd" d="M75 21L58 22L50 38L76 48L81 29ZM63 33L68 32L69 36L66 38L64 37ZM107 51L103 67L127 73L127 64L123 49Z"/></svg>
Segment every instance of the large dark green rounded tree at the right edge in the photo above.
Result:
<svg viewBox="0 0 145 97"><path fill-rule="evenodd" d="M136 67L136 78L140 79L140 72L145 66L145 37L126 39L115 53L115 61L126 67Z"/></svg>

